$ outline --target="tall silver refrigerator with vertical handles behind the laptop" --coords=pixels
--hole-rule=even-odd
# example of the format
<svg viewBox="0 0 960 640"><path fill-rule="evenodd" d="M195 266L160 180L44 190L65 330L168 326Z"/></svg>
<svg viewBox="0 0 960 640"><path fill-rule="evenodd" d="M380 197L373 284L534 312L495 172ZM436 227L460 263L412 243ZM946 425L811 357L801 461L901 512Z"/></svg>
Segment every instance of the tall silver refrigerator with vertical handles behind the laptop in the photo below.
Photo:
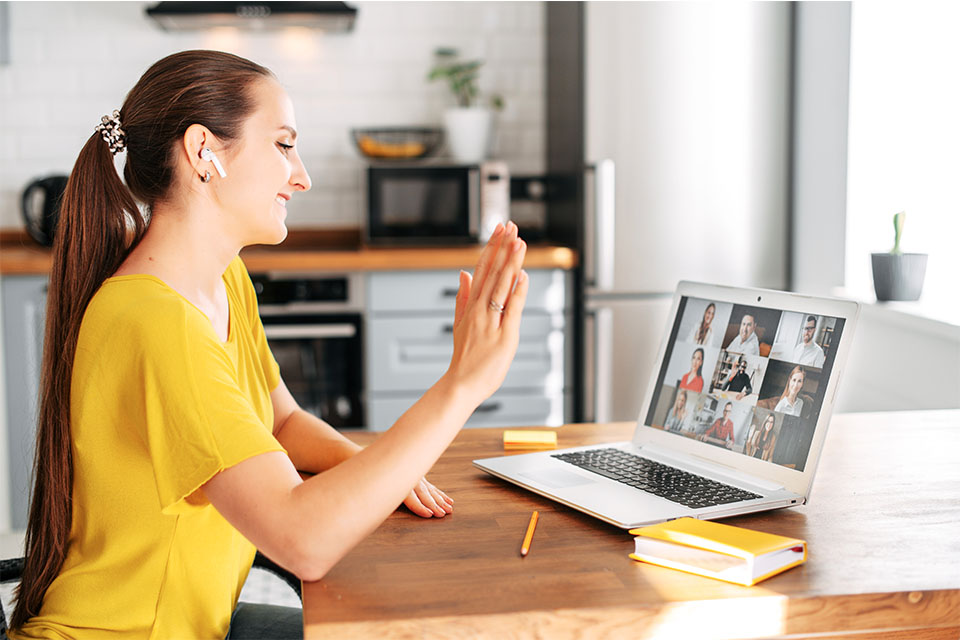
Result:
<svg viewBox="0 0 960 640"><path fill-rule="evenodd" d="M636 420L680 280L788 284L793 9L547 11L548 171L582 171L550 211L581 253L574 419Z"/></svg>

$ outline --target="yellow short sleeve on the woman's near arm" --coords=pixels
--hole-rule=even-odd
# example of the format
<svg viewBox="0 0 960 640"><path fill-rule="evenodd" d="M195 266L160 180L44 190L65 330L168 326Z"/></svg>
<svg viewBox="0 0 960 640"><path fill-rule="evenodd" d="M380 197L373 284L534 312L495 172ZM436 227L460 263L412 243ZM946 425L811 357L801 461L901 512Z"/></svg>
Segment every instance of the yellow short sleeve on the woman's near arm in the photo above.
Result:
<svg viewBox="0 0 960 640"><path fill-rule="evenodd" d="M164 329L155 330L162 320ZM143 331L143 433L165 514L206 504L193 495L214 475L253 456L283 451L237 381L208 321L171 305ZM203 320L203 321L201 321Z"/></svg>

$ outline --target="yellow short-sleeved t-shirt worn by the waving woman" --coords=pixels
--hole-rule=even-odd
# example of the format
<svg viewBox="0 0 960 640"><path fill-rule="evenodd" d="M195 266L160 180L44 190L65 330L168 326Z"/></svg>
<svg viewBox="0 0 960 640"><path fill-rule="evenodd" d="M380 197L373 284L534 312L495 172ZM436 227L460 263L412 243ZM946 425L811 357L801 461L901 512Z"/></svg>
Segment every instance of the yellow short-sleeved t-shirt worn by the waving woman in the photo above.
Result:
<svg viewBox="0 0 960 640"><path fill-rule="evenodd" d="M268 451L279 368L237 257L227 342L160 279L107 279L73 365L73 523L17 638L223 638L255 549L198 488Z"/></svg>

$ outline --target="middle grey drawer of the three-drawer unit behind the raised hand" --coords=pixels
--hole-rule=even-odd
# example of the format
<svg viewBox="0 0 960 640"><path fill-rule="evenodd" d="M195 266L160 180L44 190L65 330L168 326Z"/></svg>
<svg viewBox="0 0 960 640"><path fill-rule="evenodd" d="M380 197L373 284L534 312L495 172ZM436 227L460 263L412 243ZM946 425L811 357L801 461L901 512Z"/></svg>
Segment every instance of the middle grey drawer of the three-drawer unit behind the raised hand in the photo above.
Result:
<svg viewBox="0 0 960 640"><path fill-rule="evenodd" d="M504 388L562 391L565 324L559 314L524 314L520 344ZM447 370L452 355L452 314L371 318L367 321L367 390L423 393Z"/></svg>

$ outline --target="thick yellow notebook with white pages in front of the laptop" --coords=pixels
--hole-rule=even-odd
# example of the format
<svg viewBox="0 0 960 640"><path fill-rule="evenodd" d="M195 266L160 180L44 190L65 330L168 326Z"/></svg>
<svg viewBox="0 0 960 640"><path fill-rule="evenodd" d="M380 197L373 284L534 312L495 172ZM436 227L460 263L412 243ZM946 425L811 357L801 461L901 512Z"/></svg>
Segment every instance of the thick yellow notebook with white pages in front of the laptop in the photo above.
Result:
<svg viewBox="0 0 960 640"><path fill-rule="evenodd" d="M696 518L632 529L634 560L745 586L807 561L807 543Z"/></svg>

